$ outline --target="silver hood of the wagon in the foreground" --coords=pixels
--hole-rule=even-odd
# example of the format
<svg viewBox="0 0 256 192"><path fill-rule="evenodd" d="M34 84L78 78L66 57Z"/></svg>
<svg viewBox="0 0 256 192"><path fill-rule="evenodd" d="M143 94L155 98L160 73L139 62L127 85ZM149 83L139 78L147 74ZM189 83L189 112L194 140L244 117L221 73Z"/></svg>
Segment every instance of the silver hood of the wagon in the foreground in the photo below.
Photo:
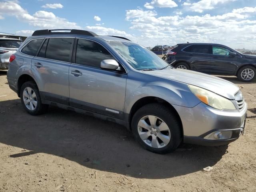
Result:
<svg viewBox="0 0 256 192"><path fill-rule="evenodd" d="M232 82L191 70L164 69L143 72L146 74L198 86L228 99L235 99L234 94L239 91L238 86Z"/></svg>

